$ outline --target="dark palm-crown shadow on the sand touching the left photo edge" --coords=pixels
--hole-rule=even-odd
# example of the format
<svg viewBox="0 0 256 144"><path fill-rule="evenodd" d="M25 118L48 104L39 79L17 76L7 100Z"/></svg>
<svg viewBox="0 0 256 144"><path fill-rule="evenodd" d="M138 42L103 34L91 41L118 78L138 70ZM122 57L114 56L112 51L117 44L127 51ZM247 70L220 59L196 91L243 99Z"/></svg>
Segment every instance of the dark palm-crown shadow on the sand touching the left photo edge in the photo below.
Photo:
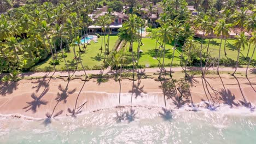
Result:
<svg viewBox="0 0 256 144"><path fill-rule="evenodd" d="M0 82L0 95L5 96L6 94L13 93L18 89L19 83L17 82Z"/></svg>

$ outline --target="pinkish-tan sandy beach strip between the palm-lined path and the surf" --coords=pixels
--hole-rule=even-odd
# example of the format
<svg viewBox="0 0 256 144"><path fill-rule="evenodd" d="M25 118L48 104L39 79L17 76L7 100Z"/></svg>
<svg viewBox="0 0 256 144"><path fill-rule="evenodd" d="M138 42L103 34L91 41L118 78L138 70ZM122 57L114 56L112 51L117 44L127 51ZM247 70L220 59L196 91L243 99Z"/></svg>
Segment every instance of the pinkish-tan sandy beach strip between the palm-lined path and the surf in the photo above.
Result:
<svg viewBox="0 0 256 144"><path fill-rule="evenodd" d="M195 77L189 82L193 103L211 101L215 104L228 104L234 108L242 106L245 101L256 104L255 76L250 77L248 81L246 77L235 79L223 74L221 79L218 76L206 76L205 80ZM119 106L119 84L121 105L130 105L132 81L128 79L123 79L120 83L113 79L98 83L97 79L85 82L79 79L63 81L47 77L3 82L0 84L0 113L46 118L115 107ZM164 107L164 95L160 86L161 82L154 79L135 81L132 106ZM84 106L81 106L83 104ZM171 99L168 99L166 104L169 108L174 106Z"/></svg>

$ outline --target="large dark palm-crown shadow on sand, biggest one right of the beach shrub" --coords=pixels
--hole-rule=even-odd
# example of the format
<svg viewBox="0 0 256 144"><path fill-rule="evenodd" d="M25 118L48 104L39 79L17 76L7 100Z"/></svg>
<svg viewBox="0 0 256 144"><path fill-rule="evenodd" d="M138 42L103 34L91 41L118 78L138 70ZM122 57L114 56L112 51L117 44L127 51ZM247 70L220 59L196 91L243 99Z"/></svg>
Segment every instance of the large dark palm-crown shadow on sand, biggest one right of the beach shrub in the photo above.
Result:
<svg viewBox="0 0 256 144"><path fill-rule="evenodd" d="M235 95L231 93L231 91L228 89L226 91L224 88L221 89L219 92L220 96L219 99L223 101L224 104L228 104L230 108L232 108L234 105L238 106L237 103L235 103Z"/></svg>

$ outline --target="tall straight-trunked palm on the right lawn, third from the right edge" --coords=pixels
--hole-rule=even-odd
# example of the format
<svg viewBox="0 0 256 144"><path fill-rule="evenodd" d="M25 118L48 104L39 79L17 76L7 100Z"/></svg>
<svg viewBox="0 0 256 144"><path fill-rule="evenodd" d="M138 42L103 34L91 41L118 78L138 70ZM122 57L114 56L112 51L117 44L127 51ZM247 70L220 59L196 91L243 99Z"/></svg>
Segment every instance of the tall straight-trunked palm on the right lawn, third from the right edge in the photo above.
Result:
<svg viewBox="0 0 256 144"><path fill-rule="evenodd" d="M223 39L223 35L225 35L226 33L228 33L230 31L230 27L232 26L231 23L226 24L225 19L219 20L219 23L217 24L217 26L215 27L215 33L217 35L217 37L219 37L220 35L222 35L221 39L220 39L220 45L219 45L219 57L218 57L218 67L217 67L217 73L219 74L219 59L220 59L220 49L222 47L222 39Z"/></svg>

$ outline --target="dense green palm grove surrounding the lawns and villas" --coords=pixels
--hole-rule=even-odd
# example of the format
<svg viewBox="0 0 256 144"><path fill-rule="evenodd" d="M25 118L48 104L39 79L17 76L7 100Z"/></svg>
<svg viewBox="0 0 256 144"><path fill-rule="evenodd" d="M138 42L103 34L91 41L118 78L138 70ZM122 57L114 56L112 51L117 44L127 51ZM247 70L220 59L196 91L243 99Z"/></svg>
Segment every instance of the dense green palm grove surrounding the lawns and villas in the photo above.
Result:
<svg viewBox="0 0 256 144"><path fill-rule="evenodd" d="M8 5L9 1L1 1L1 7ZM103 5L112 5L112 9L107 10L106 15L98 17L95 21L89 17L97 7ZM119 3L120 4L120 3ZM152 15L158 11L154 4L159 4L163 12L159 14L158 20L153 25ZM194 5L197 9L197 15L192 15L187 5ZM138 69L144 67L139 64L141 57L140 47L143 44L142 28L150 27L149 36L155 39L154 47L155 59L158 61L156 67L160 68L159 78L164 73L166 66L173 67L174 53L179 52L180 64L184 73L188 76L186 69L190 65L203 67L207 64L224 65L226 59L220 58L220 52L226 53L226 40L232 28L240 29L241 32L235 37L235 48L237 50L237 59L232 64L238 67L242 65L255 65L253 59L255 51L255 4L254 1L125 1L129 6L124 13L129 15L129 19L123 23L119 29L119 41L129 45L129 50L112 51L109 47L111 41L109 35L109 25L114 20L112 16L113 9L119 10L123 5L114 5L108 1L29 1L22 7L9 10L1 15L0 19L0 70L9 73L13 71L28 71L39 62L45 61L51 57L51 65L60 61L65 62L63 70L86 70L81 57L85 55L86 45L81 44L82 36L88 33L88 27L93 23L101 26L101 47L99 49L104 55L102 68L109 65L114 69L132 68ZM141 11L141 8L148 8L149 11ZM218 10L222 10L220 13ZM251 13L248 13L251 11ZM148 13L146 19L142 15ZM140 31L141 30L141 31ZM196 38L196 32L201 31L201 37ZM250 35L246 35L245 32ZM98 37L100 37L98 35ZM220 39L218 57L211 56L211 37L208 40L207 50L204 50L204 39L208 35L216 35ZM201 46L195 46L194 41L199 40ZM135 47L135 43L138 44ZM171 63L165 63L166 45L173 44ZM224 49L222 49L224 45ZM79 51L75 51L75 46ZM240 51L249 46L245 59L240 59ZM249 56L249 50L253 53ZM74 53L76 67L70 67L66 62L69 53ZM86 55L85 55L86 56ZM127 61L124 61L126 59ZM247 67L247 68L248 68ZM135 71L135 70L133 70ZM233 75L235 74L235 71ZM85 73L86 75L86 73ZM134 76L134 73L133 73ZM170 76L171 73L170 73Z"/></svg>

